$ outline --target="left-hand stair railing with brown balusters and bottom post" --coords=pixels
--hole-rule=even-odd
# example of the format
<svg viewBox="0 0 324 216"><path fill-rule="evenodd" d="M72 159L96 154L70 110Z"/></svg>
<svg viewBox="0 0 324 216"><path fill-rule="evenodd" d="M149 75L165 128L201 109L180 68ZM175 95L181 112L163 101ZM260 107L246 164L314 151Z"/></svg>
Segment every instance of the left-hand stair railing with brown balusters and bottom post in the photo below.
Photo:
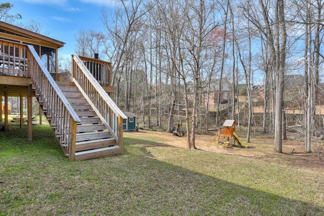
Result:
<svg viewBox="0 0 324 216"><path fill-rule="evenodd" d="M61 146L68 149L69 159L75 160L76 124L80 119L34 47L28 45L28 49L28 75L37 91L38 102L43 103L43 111L47 112Z"/></svg>

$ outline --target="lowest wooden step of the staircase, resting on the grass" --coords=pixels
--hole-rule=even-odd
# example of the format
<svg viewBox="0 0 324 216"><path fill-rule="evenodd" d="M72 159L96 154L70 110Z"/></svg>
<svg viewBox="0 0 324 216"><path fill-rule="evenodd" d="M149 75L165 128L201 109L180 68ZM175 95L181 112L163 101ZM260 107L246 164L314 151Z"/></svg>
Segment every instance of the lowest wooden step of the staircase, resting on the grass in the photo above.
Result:
<svg viewBox="0 0 324 216"><path fill-rule="evenodd" d="M111 146L100 149L92 149L88 151L75 152L75 160L88 160L92 158L105 157L108 155L121 153L119 146Z"/></svg>

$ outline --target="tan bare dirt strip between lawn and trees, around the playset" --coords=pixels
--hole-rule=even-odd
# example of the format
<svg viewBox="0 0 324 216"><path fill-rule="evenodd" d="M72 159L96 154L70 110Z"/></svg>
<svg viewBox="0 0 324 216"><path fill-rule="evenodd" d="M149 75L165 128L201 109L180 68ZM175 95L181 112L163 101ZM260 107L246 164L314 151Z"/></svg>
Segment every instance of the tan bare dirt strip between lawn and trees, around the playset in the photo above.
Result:
<svg viewBox="0 0 324 216"><path fill-rule="evenodd" d="M142 132L142 133L141 133ZM136 137L158 137L159 142L176 148L187 148L187 137L177 137L172 134L163 132L145 133L140 132L126 132L136 133ZM276 153L274 151L273 134L254 134L250 143L246 142L245 131L240 131L238 136L243 141L242 148L235 145L224 148L223 145L217 146L216 141L213 141L215 135L196 135L196 147L200 151L215 152L217 154L236 155L242 158L253 157L266 162L282 166L299 166L301 168L313 169L314 171L324 171L324 144L314 144L316 151L319 149L320 153L307 153L305 151L304 142L292 139L298 137L297 135L290 135L288 140L282 143L282 152ZM318 145L320 145L318 148Z"/></svg>

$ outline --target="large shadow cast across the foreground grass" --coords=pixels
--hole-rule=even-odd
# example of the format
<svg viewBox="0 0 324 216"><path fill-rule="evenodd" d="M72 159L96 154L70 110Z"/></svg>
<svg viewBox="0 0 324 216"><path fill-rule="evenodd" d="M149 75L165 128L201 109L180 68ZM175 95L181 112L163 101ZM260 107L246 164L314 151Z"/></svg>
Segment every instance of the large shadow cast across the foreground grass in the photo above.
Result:
<svg viewBox="0 0 324 216"><path fill-rule="evenodd" d="M21 133L17 134L18 131ZM157 160L150 152L154 150L152 147L169 145L132 137L124 139L123 155L51 163L52 153L57 159L62 157L51 128L34 127L35 141L29 144L28 140L23 141L27 137L24 133L24 128L0 133L3 154L0 159L0 180L3 181L0 215L324 214L323 206L299 201L301 197L287 198L218 178L217 171L221 166L213 166L213 175L205 174L206 164L199 161L205 152L176 148L159 151L166 158L182 154L184 161L201 163L204 167L201 171L193 171L175 165L172 160ZM4 143L5 140L8 142ZM25 152L23 160L12 155L21 149ZM38 156L43 154L38 160L34 159L35 151ZM184 155L182 151L189 154ZM219 158L215 163L221 161ZM256 184L254 181L252 179L251 184ZM273 184L274 191L279 190L274 182L267 184ZM289 192L289 189L285 190Z"/></svg>

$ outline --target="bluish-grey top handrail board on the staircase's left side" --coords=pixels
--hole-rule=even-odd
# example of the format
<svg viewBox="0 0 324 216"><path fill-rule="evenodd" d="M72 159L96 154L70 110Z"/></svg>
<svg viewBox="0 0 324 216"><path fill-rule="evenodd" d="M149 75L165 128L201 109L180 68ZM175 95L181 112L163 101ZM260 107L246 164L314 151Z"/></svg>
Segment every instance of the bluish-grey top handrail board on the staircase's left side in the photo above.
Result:
<svg viewBox="0 0 324 216"><path fill-rule="evenodd" d="M54 91L57 93L58 97L60 98L60 100L64 104L65 108L70 113L72 119L75 122L80 122L80 118L78 117L78 115L76 114L76 112L74 111L74 109L72 108L71 104L67 101L67 99L63 95L61 89L58 87L58 85L56 84L55 80L51 76L50 72L47 70L44 62L41 60L41 58L39 58L39 56L38 56L37 52L35 51L34 47L31 46L31 45L27 45L27 46L29 48L29 51L30 51L31 55L34 57L34 59L36 60L37 64L39 65L39 67L41 67L43 74L49 80L49 83L52 85ZM29 73L30 72L31 71L29 70ZM32 81L34 81L34 80L32 80Z"/></svg>

